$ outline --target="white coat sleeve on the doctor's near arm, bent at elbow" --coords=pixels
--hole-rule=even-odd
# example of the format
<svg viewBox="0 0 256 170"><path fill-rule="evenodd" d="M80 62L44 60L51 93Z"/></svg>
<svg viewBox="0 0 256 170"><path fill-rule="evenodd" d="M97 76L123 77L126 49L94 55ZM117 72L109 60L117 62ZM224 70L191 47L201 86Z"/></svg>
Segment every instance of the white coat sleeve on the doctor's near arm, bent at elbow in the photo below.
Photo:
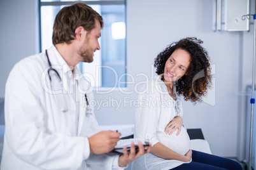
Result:
<svg viewBox="0 0 256 170"><path fill-rule="evenodd" d="M86 138L49 133L45 127L40 65L16 65L6 82L6 145L18 159L39 169L78 169L83 162ZM33 65L33 66L31 66ZM34 69L33 69L34 68Z"/></svg>

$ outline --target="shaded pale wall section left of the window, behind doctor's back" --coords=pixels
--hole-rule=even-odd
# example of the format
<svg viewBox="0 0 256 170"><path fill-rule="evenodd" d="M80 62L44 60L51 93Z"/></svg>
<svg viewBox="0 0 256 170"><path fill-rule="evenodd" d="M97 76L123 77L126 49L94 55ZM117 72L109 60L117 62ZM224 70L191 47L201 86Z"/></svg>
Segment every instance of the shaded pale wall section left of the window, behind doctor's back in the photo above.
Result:
<svg viewBox="0 0 256 170"><path fill-rule="evenodd" d="M0 97L13 65L38 52L36 2L0 0Z"/></svg>

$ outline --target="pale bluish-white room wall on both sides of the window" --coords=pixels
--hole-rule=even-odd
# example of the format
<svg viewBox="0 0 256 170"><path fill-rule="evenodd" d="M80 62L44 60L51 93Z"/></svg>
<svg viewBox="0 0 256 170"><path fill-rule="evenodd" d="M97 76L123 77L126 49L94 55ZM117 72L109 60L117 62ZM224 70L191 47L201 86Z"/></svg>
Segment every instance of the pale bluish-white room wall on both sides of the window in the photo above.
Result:
<svg viewBox="0 0 256 170"><path fill-rule="evenodd" d="M38 51L35 6L36 0L0 0L0 97L4 96L5 81L13 65ZM184 124L187 128L203 129L213 154L242 160L245 96L237 94L251 84L253 32L213 32L211 18L210 0L127 0L127 72L136 79L125 90L134 91L136 82L145 81L136 74L151 77L153 59L171 42L190 36L202 39L216 67L216 103L194 106L184 102ZM135 92L124 95L115 90L95 97L99 101L115 99L122 104L117 110L115 106L96 109L99 124L134 123L135 107L124 100L136 100Z"/></svg>

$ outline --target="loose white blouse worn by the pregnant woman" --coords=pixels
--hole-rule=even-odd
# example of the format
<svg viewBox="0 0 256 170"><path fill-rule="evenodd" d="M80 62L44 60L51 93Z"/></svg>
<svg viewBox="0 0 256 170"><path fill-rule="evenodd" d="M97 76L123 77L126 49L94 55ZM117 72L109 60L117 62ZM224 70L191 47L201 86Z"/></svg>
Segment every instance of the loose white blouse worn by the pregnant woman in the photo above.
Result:
<svg viewBox="0 0 256 170"><path fill-rule="evenodd" d="M140 105L136 108L134 138L150 140L152 146L160 142L174 152L185 155L190 149L187 129L181 126L178 136L176 135L178 129L171 135L164 132L164 128L174 117L183 115L180 98L173 100L161 77L157 76L143 86L138 100ZM145 154L132 162L132 169L172 169L183 163L189 162L167 160L153 154Z"/></svg>

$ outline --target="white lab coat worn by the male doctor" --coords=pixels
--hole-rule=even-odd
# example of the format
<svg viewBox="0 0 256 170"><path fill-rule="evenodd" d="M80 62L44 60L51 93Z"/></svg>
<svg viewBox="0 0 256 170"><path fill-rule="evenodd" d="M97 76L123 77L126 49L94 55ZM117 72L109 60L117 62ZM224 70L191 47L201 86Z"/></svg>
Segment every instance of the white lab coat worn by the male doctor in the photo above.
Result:
<svg viewBox="0 0 256 170"><path fill-rule="evenodd" d="M58 55L54 46L48 49L53 66L61 64L57 62ZM89 157L87 137L98 131L94 112L90 117L85 116L87 105L83 96L90 83L84 78L79 79L82 90L78 92L80 112L77 126L73 122L77 117L73 97L65 95L68 112L61 112L46 88L50 87L45 71L48 67L45 53L40 53L24 58L10 72L4 101L6 129L1 169L112 169L113 155L90 154ZM60 77L64 75L61 69L57 71ZM66 79L62 77L64 84ZM87 97L92 100L92 92L87 93Z"/></svg>

